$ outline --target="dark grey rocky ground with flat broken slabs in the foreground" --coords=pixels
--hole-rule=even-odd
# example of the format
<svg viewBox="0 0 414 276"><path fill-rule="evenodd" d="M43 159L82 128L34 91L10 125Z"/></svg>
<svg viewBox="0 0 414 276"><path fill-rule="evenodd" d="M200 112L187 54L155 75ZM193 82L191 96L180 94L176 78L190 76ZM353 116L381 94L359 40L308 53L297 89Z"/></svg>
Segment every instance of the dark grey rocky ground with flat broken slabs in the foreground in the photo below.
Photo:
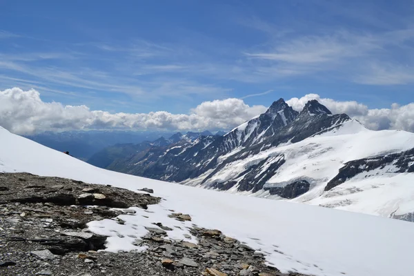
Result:
<svg viewBox="0 0 414 276"><path fill-rule="evenodd" d="M190 232L198 239L193 244L166 239L170 228L154 221L148 235L136 239L148 250L108 253L106 237L86 226L101 219L123 224L117 216L134 212L126 208L146 209L159 200L148 193L58 177L0 174L0 275L286 275L219 230L193 225ZM181 213L171 217L191 220Z"/></svg>

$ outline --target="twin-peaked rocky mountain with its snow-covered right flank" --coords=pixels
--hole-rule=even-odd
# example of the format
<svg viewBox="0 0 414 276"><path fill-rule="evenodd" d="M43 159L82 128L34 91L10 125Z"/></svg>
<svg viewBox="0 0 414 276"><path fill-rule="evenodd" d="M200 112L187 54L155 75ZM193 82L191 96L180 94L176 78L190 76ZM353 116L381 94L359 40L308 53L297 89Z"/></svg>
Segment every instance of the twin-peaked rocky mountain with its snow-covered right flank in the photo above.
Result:
<svg viewBox="0 0 414 276"><path fill-rule="evenodd" d="M413 220L414 134L372 131L318 101L283 100L223 137L153 148L121 172Z"/></svg>

